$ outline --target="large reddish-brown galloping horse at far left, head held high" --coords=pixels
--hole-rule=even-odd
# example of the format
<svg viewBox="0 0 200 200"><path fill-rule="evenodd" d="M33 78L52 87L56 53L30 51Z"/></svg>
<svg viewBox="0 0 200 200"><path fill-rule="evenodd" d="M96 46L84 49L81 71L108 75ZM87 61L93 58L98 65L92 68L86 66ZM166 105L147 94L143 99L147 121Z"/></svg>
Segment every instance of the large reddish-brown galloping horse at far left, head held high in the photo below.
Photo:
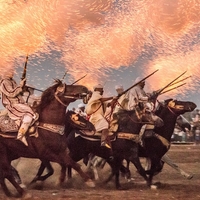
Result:
<svg viewBox="0 0 200 200"><path fill-rule="evenodd" d="M34 133L30 133L35 136L27 136L28 146L21 141L4 137L6 133L0 133L0 184L7 196L12 194L5 179L16 188L19 196L24 194L23 188L15 181L11 170L11 161L19 157L39 158L44 162L52 161L63 166L71 166L86 183L94 186L88 175L69 157L64 133L66 107L76 99L83 98L87 92L88 89L84 86L66 85L56 80L56 84L42 94L41 102L37 107L39 125L35 126ZM64 178L60 177L60 181L63 180Z"/></svg>

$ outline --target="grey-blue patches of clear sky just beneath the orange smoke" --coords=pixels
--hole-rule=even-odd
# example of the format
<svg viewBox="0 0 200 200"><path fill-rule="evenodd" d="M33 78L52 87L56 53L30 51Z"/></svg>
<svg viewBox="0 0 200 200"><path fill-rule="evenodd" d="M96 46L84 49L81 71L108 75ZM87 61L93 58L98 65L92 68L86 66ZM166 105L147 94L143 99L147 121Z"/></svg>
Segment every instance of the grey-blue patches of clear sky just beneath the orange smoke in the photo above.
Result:
<svg viewBox="0 0 200 200"><path fill-rule="evenodd" d="M35 63L39 64L35 65ZM145 68L141 68L139 66L137 67L137 65L141 66L141 62L135 63L134 67L133 66L120 67L118 69L109 70L106 77L102 77L103 80L102 82L104 83L104 88L105 88L105 96L116 95L115 92L116 85L121 84L124 86L124 89L127 89L133 84L136 77L139 76L143 78L142 70ZM30 56L27 65L27 84L37 89L44 90L47 87L51 86L54 79L56 78L62 79L65 72L66 70L64 65L62 65L59 62L56 62L54 56L52 56L51 58L47 58L46 60L43 61L37 61L35 59L32 59ZM16 67L15 80L17 82L20 81L22 73L23 73L23 66ZM82 75L84 76L85 73L83 72ZM175 74L171 80L176 78L178 75ZM151 84L153 76L151 77L151 79L147 79L146 81L146 92L151 92L148 91L148 85ZM64 80L67 84L71 84L74 81L73 77L70 74L67 74ZM84 78L84 81L87 82L87 76ZM35 91L35 94L41 95L41 92ZM168 93L168 97L169 98L171 97L170 92ZM197 104L198 108L200 108L200 101L199 101L200 95L198 93L188 92L187 95L185 94L182 95L177 91L177 95L175 97L173 96L173 98L177 98L179 100L193 101ZM76 102L70 104L69 109L72 109L72 107L77 107L77 105L80 102L82 101L77 100ZM0 108L1 109L3 108L2 104L0 104Z"/></svg>

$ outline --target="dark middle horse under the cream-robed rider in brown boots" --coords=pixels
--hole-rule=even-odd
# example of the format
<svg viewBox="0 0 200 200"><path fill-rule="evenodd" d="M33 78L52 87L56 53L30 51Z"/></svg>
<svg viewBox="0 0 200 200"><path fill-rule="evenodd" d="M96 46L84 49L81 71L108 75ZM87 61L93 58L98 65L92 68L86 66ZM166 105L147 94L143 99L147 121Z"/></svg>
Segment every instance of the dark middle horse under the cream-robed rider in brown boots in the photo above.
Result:
<svg viewBox="0 0 200 200"><path fill-rule="evenodd" d="M138 112L137 110L124 111L120 114L119 121L120 124L123 124L123 128L119 127L118 130L120 132L129 132L129 137L132 138L132 140L126 141L123 137L123 133L115 136L114 140L112 141L112 152L107 148L101 147L100 136L84 135L77 128L73 128L73 131L71 131L71 124L69 123L69 121L66 121L66 131L68 132L66 133L66 135L68 135L67 144L70 150L69 155L75 161L79 161L85 158L89 153L93 153L95 155L105 158L112 168L113 175L115 175L116 177L116 188L120 187L119 168L121 166L121 162L124 157L128 157L132 159L132 162L136 166L138 172L141 174L141 176L144 177L148 184L148 178L146 177L146 173L142 168L138 158L138 143L134 142L134 140L136 138L138 139L140 129L145 123L157 124L161 126L162 121L160 121L160 119L158 119L156 116L152 115L152 113L146 113L145 109L142 112ZM91 134L91 132L89 134ZM113 159L111 159L111 155L113 156ZM42 163L36 177L33 179L32 182L35 182L37 180L45 180L47 176L49 176L41 176L45 167L48 167L48 170L50 170L52 174L52 167L50 166L50 163ZM69 166L69 177L71 176L70 169L71 168ZM66 173L65 166L62 166L61 172L64 174Z"/></svg>

